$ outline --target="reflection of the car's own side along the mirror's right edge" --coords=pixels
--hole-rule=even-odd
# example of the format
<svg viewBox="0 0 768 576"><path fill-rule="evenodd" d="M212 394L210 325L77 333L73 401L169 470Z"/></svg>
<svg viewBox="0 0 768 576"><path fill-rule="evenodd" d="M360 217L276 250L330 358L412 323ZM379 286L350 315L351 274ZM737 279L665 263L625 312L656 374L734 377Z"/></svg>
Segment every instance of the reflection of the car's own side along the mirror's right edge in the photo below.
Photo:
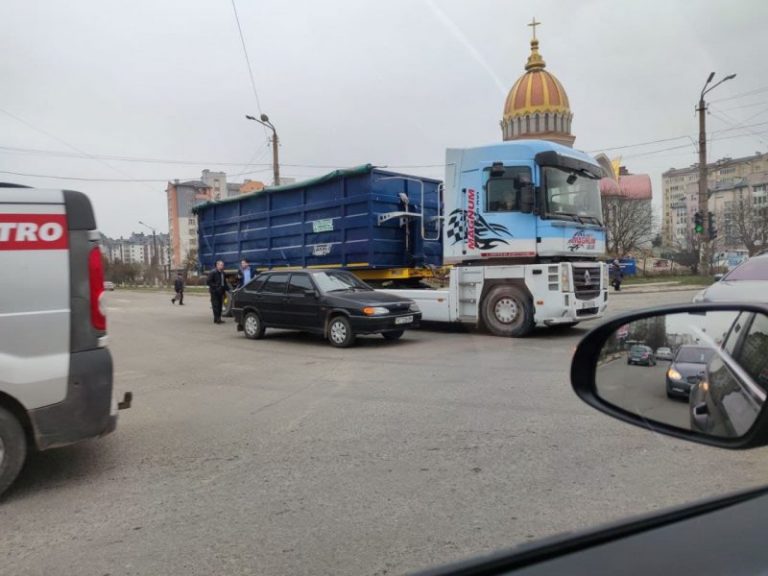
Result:
<svg viewBox="0 0 768 576"><path fill-rule="evenodd" d="M768 391L768 316L742 312L728 330L722 354L690 395L691 429L723 437L747 433Z"/></svg>

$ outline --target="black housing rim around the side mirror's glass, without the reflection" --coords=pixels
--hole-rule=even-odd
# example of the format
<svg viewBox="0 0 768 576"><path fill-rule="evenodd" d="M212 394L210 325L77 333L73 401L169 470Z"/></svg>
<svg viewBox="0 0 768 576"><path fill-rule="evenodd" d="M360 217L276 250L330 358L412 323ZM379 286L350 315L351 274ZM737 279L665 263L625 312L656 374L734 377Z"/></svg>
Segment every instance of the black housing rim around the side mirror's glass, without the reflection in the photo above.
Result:
<svg viewBox="0 0 768 576"><path fill-rule="evenodd" d="M621 328L632 322L646 320L660 315L689 314L702 315L708 312L753 312L768 316L768 306L753 304L686 304L651 308L629 314L622 314L612 318L608 322L598 326L589 332L576 347L573 362L571 364L571 385L576 395L584 402L597 410L623 420L635 426L646 428L654 432L673 436L683 440L717 446L729 449L746 449L768 445L768 403L764 403L757 414L754 423L741 436L714 436L699 431L686 430L672 426L664 422L649 420L642 414L638 414L605 400L597 386L597 369L603 353L603 348L611 337L617 334ZM705 416L705 407L691 406L693 420Z"/></svg>

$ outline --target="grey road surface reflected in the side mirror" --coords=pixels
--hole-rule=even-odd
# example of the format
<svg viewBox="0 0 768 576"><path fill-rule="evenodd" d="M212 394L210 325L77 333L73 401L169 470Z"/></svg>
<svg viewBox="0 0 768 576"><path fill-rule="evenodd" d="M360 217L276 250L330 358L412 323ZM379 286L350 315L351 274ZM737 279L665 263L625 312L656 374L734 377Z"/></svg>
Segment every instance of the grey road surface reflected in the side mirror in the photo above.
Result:
<svg viewBox="0 0 768 576"><path fill-rule="evenodd" d="M633 414L690 430L688 402L667 398L669 364L659 360L656 366L629 366L622 355L597 368L597 391L611 404Z"/></svg>

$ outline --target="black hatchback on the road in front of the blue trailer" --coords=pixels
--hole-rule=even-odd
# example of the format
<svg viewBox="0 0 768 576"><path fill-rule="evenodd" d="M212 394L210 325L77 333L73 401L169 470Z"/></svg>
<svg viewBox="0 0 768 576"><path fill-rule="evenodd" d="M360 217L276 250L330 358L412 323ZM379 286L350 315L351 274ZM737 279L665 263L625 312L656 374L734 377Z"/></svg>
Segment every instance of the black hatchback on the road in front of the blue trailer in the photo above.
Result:
<svg viewBox="0 0 768 576"><path fill-rule="evenodd" d="M232 315L248 338L261 338L266 328L289 328L322 334L340 348L358 334L397 340L421 320L412 300L377 292L343 270L260 274L234 293Z"/></svg>

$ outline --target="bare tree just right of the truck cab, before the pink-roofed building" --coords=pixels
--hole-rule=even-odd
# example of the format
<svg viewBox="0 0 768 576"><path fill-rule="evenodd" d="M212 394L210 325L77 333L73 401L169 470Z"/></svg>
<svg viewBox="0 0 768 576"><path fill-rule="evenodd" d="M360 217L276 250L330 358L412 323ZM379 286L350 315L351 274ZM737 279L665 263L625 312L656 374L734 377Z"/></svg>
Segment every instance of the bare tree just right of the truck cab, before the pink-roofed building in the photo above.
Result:
<svg viewBox="0 0 768 576"><path fill-rule="evenodd" d="M625 256L653 240L653 210L648 200L603 196L603 222L606 247L615 256Z"/></svg>

